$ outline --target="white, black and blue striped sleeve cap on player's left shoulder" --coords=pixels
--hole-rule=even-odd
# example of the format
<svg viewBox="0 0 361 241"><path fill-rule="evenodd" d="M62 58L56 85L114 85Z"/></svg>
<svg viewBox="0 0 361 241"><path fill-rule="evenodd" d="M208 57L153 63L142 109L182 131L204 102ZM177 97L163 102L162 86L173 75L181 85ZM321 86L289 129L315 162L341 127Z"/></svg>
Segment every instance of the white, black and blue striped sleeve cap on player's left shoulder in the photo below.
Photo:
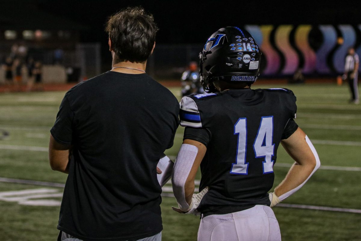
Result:
<svg viewBox="0 0 361 241"><path fill-rule="evenodd" d="M181 109L179 111L179 119L181 126L190 126L201 128L202 122L196 102L191 96L184 96L181 100Z"/></svg>

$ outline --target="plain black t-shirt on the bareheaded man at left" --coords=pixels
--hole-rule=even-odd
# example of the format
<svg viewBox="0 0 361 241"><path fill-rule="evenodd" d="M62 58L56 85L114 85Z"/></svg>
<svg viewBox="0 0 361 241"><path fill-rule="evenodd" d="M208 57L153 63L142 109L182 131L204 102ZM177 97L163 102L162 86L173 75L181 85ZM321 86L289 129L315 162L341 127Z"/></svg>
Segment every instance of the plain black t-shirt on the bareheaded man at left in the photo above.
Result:
<svg viewBox="0 0 361 241"><path fill-rule="evenodd" d="M160 232L156 165L178 113L175 96L147 74L109 71L69 90L51 129L74 146L58 229L90 241Z"/></svg>

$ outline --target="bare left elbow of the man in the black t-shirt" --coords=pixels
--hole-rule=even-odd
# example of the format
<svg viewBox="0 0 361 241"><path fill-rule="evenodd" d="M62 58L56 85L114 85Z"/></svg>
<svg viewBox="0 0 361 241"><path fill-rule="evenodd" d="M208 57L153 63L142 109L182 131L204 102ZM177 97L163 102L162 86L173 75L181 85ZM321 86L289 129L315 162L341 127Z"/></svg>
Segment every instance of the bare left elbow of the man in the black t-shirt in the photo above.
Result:
<svg viewBox="0 0 361 241"><path fill-rule="evenodd" d="M49 161L50 167L54 171L69 173L69 159L71 155L71 145L60 144L50 135Z"/></svg>

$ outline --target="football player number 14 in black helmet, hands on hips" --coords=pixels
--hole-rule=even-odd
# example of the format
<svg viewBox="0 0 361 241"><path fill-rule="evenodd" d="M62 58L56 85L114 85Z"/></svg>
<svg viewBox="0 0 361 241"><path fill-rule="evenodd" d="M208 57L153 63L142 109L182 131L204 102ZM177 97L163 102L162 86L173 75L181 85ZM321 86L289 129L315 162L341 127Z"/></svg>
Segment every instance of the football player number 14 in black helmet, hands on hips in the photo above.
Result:
<svg viewBox="0 0 361 241"><path fill-rule="evenodd" d="M271 209L295 193L319 167L316 150L298 127L291 90L251 89L261 52L238 27L212 34L200 53L200 78L208 94L184 96L186 126L172 183L182 213L201 213L199 241L281 240ZM295 160L286 178L268 193L282 144ZM199 194L194 180L200 166Z"/></svg>

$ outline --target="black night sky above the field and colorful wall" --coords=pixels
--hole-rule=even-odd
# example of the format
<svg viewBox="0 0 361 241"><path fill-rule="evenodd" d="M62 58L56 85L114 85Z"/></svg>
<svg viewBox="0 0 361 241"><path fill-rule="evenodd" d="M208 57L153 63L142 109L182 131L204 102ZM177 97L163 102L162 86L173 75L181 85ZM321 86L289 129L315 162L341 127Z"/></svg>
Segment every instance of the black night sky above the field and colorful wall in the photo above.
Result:
<svg viewBox="0 0 361 241"><path fill-rule="evenodd" d="M0 12L24 18L32 9L58 17L67 28L72 23L80 30L81 42L100 42L103 64L111 62L104 26L107 18L128 6L142 6L152 13L159 27L157 44L204 43L214 31L224 26L281 24L361 24L361 1L70 1L70 0L1 0ZM2 8L2 9L1 9ZM26 12L27 11L27 12ZM34 11L36 12L36 11ZM24 20L31 25L36 16ZM33 14L34 15L34 14ZM52 25L52 19L42 19ZM26 18L26 17L25 17ZM1 20L1 18L0 18ZM28 21L29 20L29 21ZM23 21L23 22L24 22ZM34 22L39 22L35 20ZM0 21L0 25L1 25ZM8 22L7 22L8 24ZM15 23L14 23L15 25ZM36 27L36 26L34 26ZM316 38L317 39L317 38ZM358 42L361 38L358 38ZM311 43L312 44L312 43ZM357 43L359 44L359 43ZM314 44L317 47L317 43ZM108 63L109 62L109 63Z"/></svg>

